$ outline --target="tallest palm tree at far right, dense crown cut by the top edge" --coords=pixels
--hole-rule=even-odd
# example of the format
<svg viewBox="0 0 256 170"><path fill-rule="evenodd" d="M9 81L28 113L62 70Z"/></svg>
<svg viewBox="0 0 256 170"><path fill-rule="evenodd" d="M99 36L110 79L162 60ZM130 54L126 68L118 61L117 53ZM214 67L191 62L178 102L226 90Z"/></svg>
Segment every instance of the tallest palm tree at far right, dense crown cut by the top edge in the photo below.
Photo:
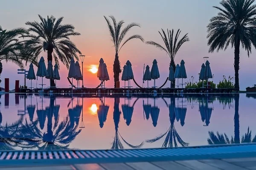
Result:
<svg viewBox="0 0 256 170"><path fill-rule="evenodd" d="M255 0L221 0L218 14L210 19L207 26L209 52L226 50L231 44L235 48L235 88L239 89L240 46L247 51L256 47L256 5Z"/></svg>

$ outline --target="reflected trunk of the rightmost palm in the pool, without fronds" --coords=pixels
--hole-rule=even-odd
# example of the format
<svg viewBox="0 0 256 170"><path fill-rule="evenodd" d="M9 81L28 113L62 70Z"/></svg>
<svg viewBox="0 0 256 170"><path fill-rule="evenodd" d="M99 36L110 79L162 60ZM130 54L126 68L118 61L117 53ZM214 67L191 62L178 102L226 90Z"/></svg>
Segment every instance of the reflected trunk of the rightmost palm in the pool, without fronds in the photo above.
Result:
<svg viewBox="0 0 256 170"><path fill-rule="evenodd" d="M239 94L235 94L235 116L234 116L234 142L240 143L240 130L239 130Z"/></svg>

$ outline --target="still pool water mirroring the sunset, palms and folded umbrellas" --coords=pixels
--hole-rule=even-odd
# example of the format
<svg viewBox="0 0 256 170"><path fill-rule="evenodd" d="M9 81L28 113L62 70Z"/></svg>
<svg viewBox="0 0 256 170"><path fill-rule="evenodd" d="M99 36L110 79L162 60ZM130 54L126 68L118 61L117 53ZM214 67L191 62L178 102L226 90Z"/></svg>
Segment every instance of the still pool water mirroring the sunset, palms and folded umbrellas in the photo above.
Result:
<svg viewBox="0 0 256 170"><path fill-rule="evenodd" d="M256 142L256 94L0 97L0 150Z"/></svg>

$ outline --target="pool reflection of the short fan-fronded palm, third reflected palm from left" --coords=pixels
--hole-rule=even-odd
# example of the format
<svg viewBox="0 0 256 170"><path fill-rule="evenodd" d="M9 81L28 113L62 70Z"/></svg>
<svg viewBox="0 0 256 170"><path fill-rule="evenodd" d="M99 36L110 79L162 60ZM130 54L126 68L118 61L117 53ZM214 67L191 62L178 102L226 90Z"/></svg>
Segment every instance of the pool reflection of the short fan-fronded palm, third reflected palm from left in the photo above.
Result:
<svg viewBox="0 0 256 170"><path fill-rule="evenodd" d="M174 122L175 122L175 98L171 98L171 104L169 105L169 120L170 120L170 127L166 131L166 133L160 134L159 136L155 137L154 139L146 140L148 143L156 142L163 138L166 135L166 139L163 142L162 147L177 147L179 143L181 146L188 146L189 143L184 142L180 135L178 134L177 130L175 129Z"/></svg>

